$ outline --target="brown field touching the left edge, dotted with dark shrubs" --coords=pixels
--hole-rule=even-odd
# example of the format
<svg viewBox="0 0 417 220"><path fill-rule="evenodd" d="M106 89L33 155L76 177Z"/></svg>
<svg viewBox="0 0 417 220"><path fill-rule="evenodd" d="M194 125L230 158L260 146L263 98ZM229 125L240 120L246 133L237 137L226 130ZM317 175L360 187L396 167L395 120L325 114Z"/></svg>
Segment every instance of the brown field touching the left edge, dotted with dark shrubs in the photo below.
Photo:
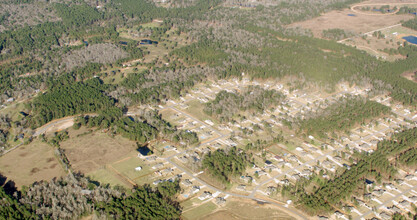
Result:
<svg viewBox="0 0 417 220"><path fill-rule="evenodd" d="M54 154L54 148L39 140L24 145L0 157L2 174L16 183L18 188L35 181L65 176L66 172Z"/></svg>

